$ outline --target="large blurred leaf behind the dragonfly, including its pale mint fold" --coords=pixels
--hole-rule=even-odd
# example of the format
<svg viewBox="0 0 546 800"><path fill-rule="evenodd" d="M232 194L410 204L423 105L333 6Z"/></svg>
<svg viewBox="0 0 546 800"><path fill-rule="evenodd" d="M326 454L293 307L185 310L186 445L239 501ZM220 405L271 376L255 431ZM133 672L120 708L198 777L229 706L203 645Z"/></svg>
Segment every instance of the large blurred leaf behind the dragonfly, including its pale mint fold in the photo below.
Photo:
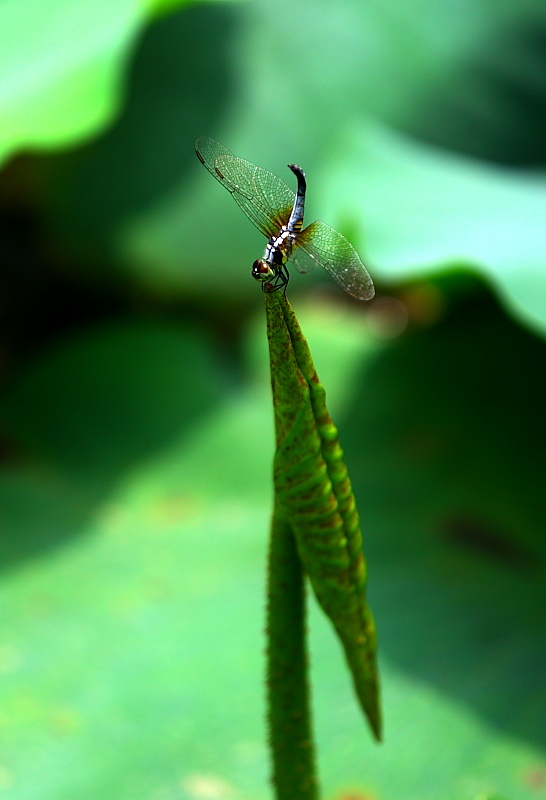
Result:
<svg viewBox="0 0 546 800"><path fill-rule="evenodd" d="M487 8L424 0L409 13L391 0L347 3L343 13L323 6L317 14L306 2L263 3L169 18L139 53L126 117L72 174L68 238L86 257L107 249L156 291L251 291L247 269L264 241L192 164L195 137L210 134L288 183L287 161L303 164L307 220L341 227L377 279L464 262L544 330L544 176L494 164L542 158L544 138L533 138L532 126L545 102L544 65L540 48L524 43L526 31L536 43L546 30L544 4ZM278 37L275 59L256 59L256 41L282 9L293 30L306 32L297 81L286 81L291 37ZM526 60L506 59L511 35ZM497 73L489 86L487 76ZM514 94L527 98L523 118ZM440 102L446 95L449 108ZM152 130L150 119L158 121Z"/></svg>

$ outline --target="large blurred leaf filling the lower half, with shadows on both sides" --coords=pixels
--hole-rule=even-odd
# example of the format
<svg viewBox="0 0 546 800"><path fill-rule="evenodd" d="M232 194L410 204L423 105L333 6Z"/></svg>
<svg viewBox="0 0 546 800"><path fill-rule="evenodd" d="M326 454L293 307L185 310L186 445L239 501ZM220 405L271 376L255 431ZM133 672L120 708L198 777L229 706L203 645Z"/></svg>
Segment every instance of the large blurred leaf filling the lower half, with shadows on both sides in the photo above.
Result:
<svg viewBox="0 0 546 800"><path fill-rule="evenodd" d="M301 321L359 499L385 700L377 746L315 610L325 798L543 800L544 440L532 365L544 345L483 300L387 344L359 310L309 309ZM257 376L264 327L260 316L250 340ZM109 363L128 363L113 385L113 367L98 369L108 345ZM0 484L2 525L16 532L3 537L0 584L9 800L271 797L270 389L257 377L218 405L207 351L195 331L104 328L46 354L12 390L12 418L29 387L36 409L86 380L94 402L73 390L70 437L60 415L36 422L20 408L16 440L27 432L43 455L19 458ZM176 353L192 376L187 401ZM55 390L49 371L63 376ZM55 547L35 540L38 519Z"/></svg>

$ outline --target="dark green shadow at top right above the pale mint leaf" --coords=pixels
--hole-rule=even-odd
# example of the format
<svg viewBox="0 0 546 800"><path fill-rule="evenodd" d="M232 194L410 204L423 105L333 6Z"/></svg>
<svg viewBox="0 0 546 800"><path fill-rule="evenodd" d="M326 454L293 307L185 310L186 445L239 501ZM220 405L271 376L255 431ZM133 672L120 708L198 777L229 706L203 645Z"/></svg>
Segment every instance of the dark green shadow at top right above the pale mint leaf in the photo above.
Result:
<svg viewBox="0 0 546 800"><path fill-rule="evenodd" d="M424 86L403 127L424 141L505 164L546 160L546 24L490 31L458 70ZM431 113L431 109L434 109Z"/></svg>

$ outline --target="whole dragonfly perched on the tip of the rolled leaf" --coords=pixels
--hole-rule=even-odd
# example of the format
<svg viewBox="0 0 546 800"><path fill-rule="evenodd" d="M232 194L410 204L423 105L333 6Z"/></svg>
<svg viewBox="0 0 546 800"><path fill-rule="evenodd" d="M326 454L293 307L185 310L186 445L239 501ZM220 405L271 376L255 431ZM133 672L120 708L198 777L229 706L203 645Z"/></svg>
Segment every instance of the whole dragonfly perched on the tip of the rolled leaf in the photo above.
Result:
<svg viewBox="0 0 546 800"><path fill-rule="evenodd" d="M371 300L373 281L362 259L343 234L317 220L303 227L307 182L297 164L288 164L297 180L297 191L272 172L237 158L214 139L201 136L195 142L199 161L231 194L248 219L267 237L263 258L252 265L253 278L265 292L282 290L290 280L287 262L298 272L323 267L347 294Z"/></svg>

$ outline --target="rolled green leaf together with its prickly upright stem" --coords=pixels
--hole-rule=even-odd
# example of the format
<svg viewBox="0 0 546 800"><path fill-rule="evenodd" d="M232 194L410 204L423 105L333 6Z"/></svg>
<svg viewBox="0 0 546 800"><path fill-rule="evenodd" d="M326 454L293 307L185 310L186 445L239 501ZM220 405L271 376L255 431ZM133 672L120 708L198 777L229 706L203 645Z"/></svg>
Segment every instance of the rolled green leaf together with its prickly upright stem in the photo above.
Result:
<svg viewBox="0 0 546 800"><path fill-rule="evenodd" d="M286 298L266 293L275 413L275 510L269 563L268 687L277 800L316 800L304 575L345 650L381 738L377 640L351 481L309 346Z"/></svg>

